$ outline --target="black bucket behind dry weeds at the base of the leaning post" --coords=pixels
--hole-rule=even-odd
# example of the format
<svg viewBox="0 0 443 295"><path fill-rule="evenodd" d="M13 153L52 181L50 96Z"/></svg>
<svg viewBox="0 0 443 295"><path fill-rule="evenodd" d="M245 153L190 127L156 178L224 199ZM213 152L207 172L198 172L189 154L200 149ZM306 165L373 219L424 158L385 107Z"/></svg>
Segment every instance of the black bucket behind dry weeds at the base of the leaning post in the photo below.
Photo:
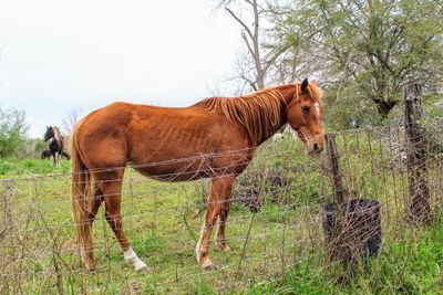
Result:
<svg viewBox="0 0 443 295"><path fill-rule="evenodd" d="M343 204L343 220L337 220L337 203L323 206L323 231L332 260L346 262L377 256L381 247L380 203L353 199Z"/></svg>

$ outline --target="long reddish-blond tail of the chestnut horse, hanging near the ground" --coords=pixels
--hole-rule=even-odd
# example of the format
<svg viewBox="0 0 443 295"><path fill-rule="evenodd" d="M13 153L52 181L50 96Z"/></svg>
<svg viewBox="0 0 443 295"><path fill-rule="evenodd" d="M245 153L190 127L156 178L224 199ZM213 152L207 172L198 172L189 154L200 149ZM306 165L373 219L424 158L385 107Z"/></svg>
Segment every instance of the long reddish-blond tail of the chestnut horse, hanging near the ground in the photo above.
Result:
<svg viewBox="0 0 443 295"><path fill-rule="evenodd" d="M92 226L89 220L89 199L92 198L92 179L91 172L79 150L76 135L74 131L71 139L73 220L78 229L82 260L89 270L93 270Z"/></svg>

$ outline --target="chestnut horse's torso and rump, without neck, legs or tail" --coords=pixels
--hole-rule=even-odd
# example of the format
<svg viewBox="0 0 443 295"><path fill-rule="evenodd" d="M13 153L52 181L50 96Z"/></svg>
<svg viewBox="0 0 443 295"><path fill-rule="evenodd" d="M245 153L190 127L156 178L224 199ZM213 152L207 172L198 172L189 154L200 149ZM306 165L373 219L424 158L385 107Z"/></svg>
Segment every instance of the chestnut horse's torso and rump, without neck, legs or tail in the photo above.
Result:
<svg viewBox="0 0 443 295"><path fill-rule="evenodd" d="M114 103L86 116L74 137L89 167L123 167L131 162L142 173L154 177L183 171L183 179L174 180L205 177L210 167L202 155L248 147L241 128L202 106Z"/></svg>

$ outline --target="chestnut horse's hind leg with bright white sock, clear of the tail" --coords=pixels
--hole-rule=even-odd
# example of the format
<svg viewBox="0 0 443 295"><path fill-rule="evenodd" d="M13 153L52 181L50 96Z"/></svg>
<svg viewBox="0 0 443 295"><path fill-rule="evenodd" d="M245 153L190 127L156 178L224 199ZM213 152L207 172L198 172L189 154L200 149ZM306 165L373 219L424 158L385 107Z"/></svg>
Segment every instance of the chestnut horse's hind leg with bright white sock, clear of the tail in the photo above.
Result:
<svg viewBox="0 0 443 295"><path fill-rule="evenodd" d="M112 176L110 177L110 173ZM103 179L103 178L102 178ZM109 172L105 177L105 182L102 183L102 191L105 203L105 218L115 236L123 249L124 260L134 266L135 271L146 271L146 264L138 259L123 231L122 213L121 213L121 191L123 185L123 170Z"/></svg>

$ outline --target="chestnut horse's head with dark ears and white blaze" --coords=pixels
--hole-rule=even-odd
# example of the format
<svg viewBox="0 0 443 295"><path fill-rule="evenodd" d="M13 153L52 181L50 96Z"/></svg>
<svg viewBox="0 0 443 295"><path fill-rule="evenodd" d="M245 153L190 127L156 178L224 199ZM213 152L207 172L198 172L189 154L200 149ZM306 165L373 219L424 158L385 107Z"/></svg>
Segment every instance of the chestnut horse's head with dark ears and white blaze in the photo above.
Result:
<svg viewBox="0 0 443 295"><path fill-rule="evenodd" d="M315 82L307 78L297 86L288 105L288 124L305 143L309 155L318 155L323 150L324 138L321 127L321 91Z"/></svg>

